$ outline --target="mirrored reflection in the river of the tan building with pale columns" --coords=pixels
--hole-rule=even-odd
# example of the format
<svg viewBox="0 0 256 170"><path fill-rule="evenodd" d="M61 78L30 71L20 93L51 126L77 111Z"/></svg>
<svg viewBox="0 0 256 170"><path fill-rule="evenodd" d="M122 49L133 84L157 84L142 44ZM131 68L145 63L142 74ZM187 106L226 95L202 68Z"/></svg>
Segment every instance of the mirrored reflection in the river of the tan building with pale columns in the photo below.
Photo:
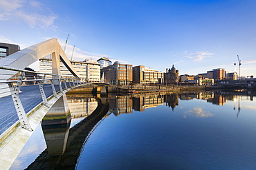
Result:
<svg viewBox="0 0 256 170"><path fill-rule="evenodd" d="M159 94L139 94L134 96L132 100L134 110L145 111L147 108L163 105L164 98Z"/></svg>

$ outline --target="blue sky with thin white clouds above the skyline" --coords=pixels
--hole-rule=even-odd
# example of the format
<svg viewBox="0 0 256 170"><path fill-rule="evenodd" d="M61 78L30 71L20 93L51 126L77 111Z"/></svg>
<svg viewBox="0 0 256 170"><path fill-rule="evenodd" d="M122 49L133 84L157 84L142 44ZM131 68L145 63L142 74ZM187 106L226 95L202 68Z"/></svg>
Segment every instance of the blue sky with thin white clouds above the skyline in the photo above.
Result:
<svg viewBox="0 0 256 170"><path fill-rule="evenodd" d="M145 65L180 74L216 68L256 76L254 0L1 0L0 42L21 49L57 38L73 59ZM35 66L33 66L35 67ZM238 71L238 67L236 68Z"/></svg>

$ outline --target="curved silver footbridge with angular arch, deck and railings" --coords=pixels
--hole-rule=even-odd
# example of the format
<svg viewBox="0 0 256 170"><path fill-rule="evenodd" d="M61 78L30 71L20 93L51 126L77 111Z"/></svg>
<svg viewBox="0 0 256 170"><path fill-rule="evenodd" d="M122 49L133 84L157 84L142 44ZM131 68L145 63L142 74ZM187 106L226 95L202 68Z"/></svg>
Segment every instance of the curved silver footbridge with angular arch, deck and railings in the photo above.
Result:
<svg viewBox="0 0 256 170"><path fill-rule="evenodd" d="M52 56L52 74L23 70L48 54ZM60 61L72 76L60 75ZM3 169L10 167L33 129L66 92L91 83L107 85L101 80L88 82L80 77L57 39L6 56L0 60L0 70L0 164ZM33 77L26 76L28 74ZM33 85L22 86L25 84ZM101 89L106 93L105 88Z"/></svg>

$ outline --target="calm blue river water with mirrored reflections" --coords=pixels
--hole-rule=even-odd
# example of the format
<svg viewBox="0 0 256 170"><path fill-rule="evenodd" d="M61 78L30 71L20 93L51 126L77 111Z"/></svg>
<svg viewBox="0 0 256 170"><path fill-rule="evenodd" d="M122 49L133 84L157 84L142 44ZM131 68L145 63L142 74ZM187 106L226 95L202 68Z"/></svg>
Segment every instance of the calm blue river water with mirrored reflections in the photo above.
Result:
<svg viewBox="0 0 256 170"><path fill-rule="evenodd" d="M255 96L67 99L71 123L39 125L11 169L256 169Z"/></svg>

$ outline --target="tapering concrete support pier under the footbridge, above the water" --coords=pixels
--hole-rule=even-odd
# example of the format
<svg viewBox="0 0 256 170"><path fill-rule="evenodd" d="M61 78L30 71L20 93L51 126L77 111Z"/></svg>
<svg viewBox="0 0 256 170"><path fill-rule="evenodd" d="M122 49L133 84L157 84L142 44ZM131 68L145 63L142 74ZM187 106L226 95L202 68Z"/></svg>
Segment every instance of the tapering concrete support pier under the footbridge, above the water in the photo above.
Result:
<svg viewBox="0 0 256 170"><path fill-rule="evenodd" d="M51 107L42 120L42 125L64 124L71 120L66 94L63 94Z"/></svg>

